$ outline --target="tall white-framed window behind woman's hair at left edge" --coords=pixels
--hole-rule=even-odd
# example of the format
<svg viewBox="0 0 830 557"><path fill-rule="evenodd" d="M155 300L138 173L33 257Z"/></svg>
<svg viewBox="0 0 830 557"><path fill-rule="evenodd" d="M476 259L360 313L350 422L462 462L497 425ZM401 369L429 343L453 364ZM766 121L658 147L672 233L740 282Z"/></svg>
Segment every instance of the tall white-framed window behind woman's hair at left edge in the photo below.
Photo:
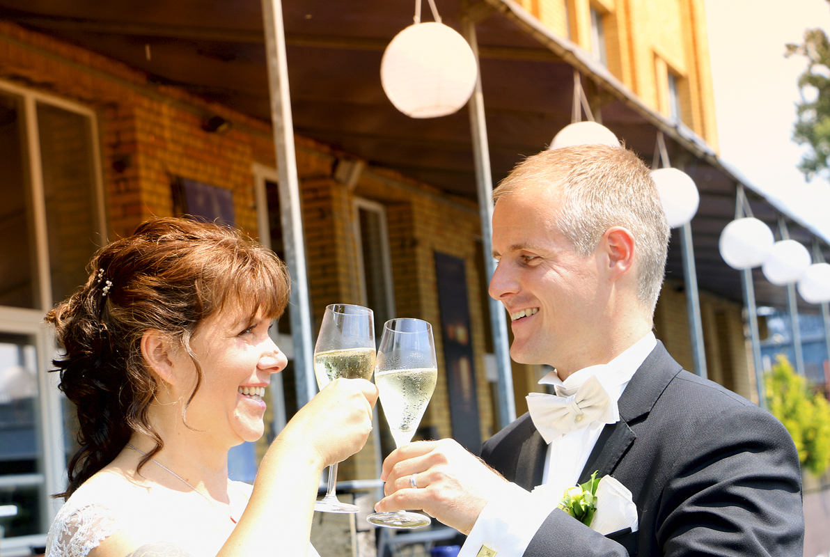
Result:
<svg viewBox="0 0 830 557"><path fill-rule="evenodd" d="M91 110L0 83L0 518L3 555L43 545L73 450L46 310L86 281L105 242Z"/></svg>

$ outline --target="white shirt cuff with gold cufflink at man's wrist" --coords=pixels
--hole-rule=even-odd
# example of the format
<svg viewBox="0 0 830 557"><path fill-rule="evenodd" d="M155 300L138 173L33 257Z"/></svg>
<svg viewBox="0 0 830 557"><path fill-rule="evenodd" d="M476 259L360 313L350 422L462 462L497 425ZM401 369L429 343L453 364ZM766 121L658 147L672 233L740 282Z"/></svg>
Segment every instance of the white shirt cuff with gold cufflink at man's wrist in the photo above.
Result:
<svg viewBox="0 0 830 557"><path fill-rule="evenodd" d="M467 536L458 557L476 557L482 545L498 557L521 557L530 540L559 501L533 496L515 483L487 503Z"/></svg>

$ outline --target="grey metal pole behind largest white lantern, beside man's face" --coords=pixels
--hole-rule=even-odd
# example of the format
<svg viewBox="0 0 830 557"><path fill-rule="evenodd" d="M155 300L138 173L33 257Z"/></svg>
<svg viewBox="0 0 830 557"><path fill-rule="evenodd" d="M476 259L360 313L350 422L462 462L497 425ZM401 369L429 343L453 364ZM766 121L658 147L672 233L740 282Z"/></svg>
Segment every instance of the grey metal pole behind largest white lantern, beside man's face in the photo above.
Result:
<svg viewBox="0 0 830 557"><path fill-rule="evenodd" d="M476 24L469 18L461 20L461 32L470 43L473 54L478 63L478 42L476 40ZM481 68L481 66L479 66ZM472 134L472 151L476 162L476 190L478 192L479 216L481 217L481 242L484 247L484 265L489 282L496 272L496 261L493 260L492 219L493 205L493 178L490 169L490 147L487 143L487 125L484 116L484 96L481 93L481 71L476 77L476 88L472 92L467 104L470 111L470 130ZM513 369L510 364L510 342L507 338L507 321L505 320L504 306L498 300L488 297L490 302L490 320L493 330L493 347L496 350L496 367L498 379L496 382L498 403L499 427L504 428L515 420L516 408L513 398Z"/></svg>

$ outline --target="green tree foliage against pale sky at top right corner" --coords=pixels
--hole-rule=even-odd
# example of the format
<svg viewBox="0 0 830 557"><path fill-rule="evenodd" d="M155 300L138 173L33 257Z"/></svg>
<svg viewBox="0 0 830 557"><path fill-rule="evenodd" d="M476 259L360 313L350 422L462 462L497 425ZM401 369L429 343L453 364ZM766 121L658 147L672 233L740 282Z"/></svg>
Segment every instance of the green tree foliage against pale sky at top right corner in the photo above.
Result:
<svg viewBox="0 0 830 557"><path fill-rule="evenodd" d="M830 0L828 0L830 2ZM793 140L808 145L798 169L809 180L817 174L830 177L830 42L821 29L804 32L803 44L789 44L785 56L807 58L807 69L798 76L801 102L796 105L798 120Z"/></svg>

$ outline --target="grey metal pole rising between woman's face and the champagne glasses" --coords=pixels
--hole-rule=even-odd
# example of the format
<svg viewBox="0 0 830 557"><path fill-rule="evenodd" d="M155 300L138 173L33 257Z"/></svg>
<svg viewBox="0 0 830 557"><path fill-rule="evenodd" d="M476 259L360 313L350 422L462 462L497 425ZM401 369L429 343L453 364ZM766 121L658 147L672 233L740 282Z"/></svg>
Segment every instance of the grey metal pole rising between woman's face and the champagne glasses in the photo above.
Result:
<svg viewBox="0 0 830 557"><path fill-rule="evenodd" d="M282 23L281 0L262 0L265 27L268 85L271 91L271 125L274 129L277 170L280 175L280 222L286 239L286 265L291 273L291 337L294 340L294 374L297 407L317 393L313 371L311 309L308 278L305 273L305 243L300 214L300 180L294 152L294 122L288 90L286 35Z"/></svg>

